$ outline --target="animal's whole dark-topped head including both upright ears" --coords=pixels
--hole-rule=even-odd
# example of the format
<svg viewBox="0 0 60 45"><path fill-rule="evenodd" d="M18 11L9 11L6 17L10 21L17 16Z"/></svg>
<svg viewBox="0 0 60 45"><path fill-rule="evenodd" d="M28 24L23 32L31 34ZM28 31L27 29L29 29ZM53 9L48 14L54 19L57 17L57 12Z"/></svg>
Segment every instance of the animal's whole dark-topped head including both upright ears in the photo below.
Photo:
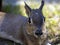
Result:
<svg viewBox="0 0 60 45"><path fill-rule="evenodd" d="M26 3L25 3L25 9L26 13L28 15L28 23L26 26L26 31L30 35L34 35L36 37L40 37L43 35L44 29L44 22L45 17L43 16L42 9L44 6L44 1L41 2L41 6L39 9L31 9Z"/></svg>

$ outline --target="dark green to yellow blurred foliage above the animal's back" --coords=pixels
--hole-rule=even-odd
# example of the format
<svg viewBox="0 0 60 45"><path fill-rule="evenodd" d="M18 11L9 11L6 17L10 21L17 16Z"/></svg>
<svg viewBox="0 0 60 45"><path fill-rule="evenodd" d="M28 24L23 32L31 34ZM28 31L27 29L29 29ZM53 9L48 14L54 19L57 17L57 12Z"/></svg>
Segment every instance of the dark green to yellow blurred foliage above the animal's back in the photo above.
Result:
<svg viewBox="0 0 60 45"><path fill-rule="evenodd" d="M2 10L3 12L7 12L7 13L15 13L15 14L21 14L26 16L24 6L22 5L12 6L9 4L9 5L3 6Z"/></svg>

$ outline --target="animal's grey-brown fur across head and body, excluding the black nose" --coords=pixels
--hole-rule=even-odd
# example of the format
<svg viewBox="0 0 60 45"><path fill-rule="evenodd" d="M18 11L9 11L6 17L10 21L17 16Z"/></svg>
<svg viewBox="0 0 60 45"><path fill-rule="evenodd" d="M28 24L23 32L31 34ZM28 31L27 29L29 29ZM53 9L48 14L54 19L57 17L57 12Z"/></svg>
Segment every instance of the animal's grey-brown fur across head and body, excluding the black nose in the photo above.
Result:
<svg viewBox="0 0 60 45"><path fill-rule="evenodd" d="M43 4L41 5L42 7ZM47 34L44 28L44 16L41 8L31 10L25 4L28 18L21 15L0 12L0 38L12 40L24 45L45 45ZM28 22L29 17L31 17L32 23ZM40 24L40 22L42 23ZM41 29L43 35L39 37L35 35L37 29Z"/></svg>

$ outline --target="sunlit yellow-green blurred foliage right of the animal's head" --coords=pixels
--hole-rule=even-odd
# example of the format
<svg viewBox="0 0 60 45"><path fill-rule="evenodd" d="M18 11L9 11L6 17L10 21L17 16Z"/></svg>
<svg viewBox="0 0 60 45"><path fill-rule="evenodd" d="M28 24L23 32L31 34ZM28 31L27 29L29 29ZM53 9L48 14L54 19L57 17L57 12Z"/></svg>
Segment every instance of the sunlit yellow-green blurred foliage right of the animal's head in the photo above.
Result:
<svg viewBox="0 0 60 45"><path fill-rule="evenodd" d="M51 6L51 8L49 6ZM60 28L60 26L59 26L60 9L57 10L59 5L52 6L50 4L49 6L45 5L44 10L46 10L46 11L43 10L43 13L46 17L46 28L47 28L48 32L50 33L48 35L50 35L50 37L52 38L52 37L55 37L56 35L60 34L60 29L59 29ZM52 9L52 7L54 10Z"/></svg>

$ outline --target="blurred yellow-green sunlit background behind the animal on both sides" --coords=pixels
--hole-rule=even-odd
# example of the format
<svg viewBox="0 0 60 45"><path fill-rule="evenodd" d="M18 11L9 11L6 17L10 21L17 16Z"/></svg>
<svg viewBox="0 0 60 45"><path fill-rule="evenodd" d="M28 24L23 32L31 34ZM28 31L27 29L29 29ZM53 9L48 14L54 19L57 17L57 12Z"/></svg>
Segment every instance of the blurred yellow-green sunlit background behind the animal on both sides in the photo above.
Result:
<svg viewBox="0 0 60 45"><path fill-rule="evenodd" d="M27 16L24 8L24 1L32 8L37 9L41 5L41 0L3 0L2 11L7 13L21 14ZM60 38L60 0L44 0L43 14L46 17L46 28L49 39L56 36Z"/></svg>

